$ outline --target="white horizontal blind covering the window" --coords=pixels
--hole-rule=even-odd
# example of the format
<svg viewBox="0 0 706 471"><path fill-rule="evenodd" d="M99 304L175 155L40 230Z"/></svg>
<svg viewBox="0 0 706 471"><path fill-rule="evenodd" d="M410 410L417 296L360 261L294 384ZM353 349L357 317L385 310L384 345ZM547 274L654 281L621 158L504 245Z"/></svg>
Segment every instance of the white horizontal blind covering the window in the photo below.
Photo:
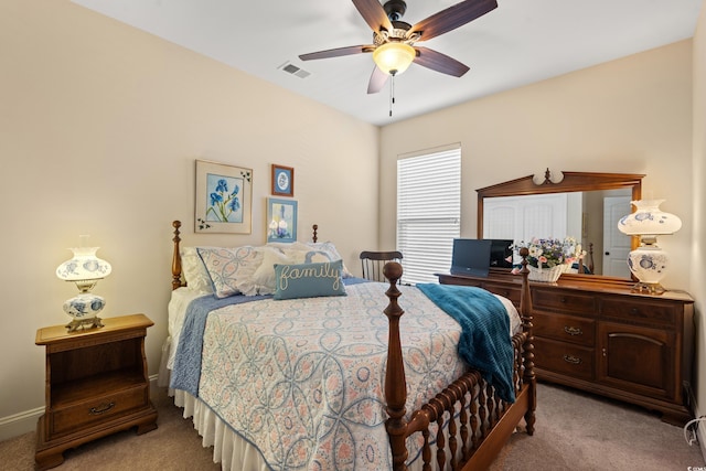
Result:
<svg viewBox="0 0 706 471"><path fill-rule="evenodd" d="M461 232L461 149L397 160L397 248L403 281L436 282Z"/></svg>

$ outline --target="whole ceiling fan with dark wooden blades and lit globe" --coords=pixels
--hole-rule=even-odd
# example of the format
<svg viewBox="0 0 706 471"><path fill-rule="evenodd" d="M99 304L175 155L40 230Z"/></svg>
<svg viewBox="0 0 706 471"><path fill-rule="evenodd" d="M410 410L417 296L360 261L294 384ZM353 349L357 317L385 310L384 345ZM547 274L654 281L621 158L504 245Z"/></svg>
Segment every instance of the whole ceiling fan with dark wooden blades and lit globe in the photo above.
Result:
<svg viewBox="0 0 706 471"><path fill-rule="evenodd" d="M407 10L404 0L352 0L373 30L373 44L338 47L299 56L302 61L373 53L375 68L367 93L379 92L388 76L402 74L414 62L442 74L460 77L469 67L459 61L428 47L415 45L447 33L498 8L495 0L466 0L441 10L414 25L400 21Z"/></svg>

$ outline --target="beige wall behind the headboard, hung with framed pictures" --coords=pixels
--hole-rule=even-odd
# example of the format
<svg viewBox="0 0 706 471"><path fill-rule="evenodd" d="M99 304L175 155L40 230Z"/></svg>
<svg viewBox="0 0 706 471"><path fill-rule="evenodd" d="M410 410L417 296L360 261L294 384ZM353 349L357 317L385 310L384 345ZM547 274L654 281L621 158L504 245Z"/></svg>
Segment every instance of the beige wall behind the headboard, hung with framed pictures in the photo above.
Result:
<svg viewBox="0 0 706 471"><path fill-rule="evenodd" d="M66 0L0 2L0 429L44 404L34 335L69 320L61 306L76 288L54 270L79 234L113 264L96 288L105 317L156 322L156 373L171 221L195 239L194 160L254 171L253 234L199 243L264 243L270 163L280 163L296 170L299 238L318 223L357 269L357 253L377 242L378 139L377 127Z"/></svg>

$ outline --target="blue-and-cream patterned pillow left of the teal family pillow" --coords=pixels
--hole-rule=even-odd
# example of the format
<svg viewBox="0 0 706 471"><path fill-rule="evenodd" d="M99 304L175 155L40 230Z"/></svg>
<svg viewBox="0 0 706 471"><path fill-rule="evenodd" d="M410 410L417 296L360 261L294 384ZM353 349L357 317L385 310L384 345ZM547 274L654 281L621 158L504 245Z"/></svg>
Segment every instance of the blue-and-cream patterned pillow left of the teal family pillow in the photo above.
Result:
<svg viewBox="0 0 706 471"><path fill-rule="evenodd" d="M217 298L257 295L253 276L263 263L263 253L256 247L199 247L197 251Z"/></svg>

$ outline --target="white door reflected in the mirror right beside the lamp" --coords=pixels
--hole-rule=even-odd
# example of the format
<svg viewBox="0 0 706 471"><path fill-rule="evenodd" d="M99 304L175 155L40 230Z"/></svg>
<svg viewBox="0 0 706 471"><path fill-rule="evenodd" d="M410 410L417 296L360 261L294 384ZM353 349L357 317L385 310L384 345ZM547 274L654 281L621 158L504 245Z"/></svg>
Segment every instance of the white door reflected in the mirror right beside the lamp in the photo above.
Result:
<svg viewBox="0 0 706 471"><path fill-rule="evenodd" d="M628 254L630 237L618 229L618 221L631 213L630 196L606 196L603 199L603 275L630 277Z"/></svg>

